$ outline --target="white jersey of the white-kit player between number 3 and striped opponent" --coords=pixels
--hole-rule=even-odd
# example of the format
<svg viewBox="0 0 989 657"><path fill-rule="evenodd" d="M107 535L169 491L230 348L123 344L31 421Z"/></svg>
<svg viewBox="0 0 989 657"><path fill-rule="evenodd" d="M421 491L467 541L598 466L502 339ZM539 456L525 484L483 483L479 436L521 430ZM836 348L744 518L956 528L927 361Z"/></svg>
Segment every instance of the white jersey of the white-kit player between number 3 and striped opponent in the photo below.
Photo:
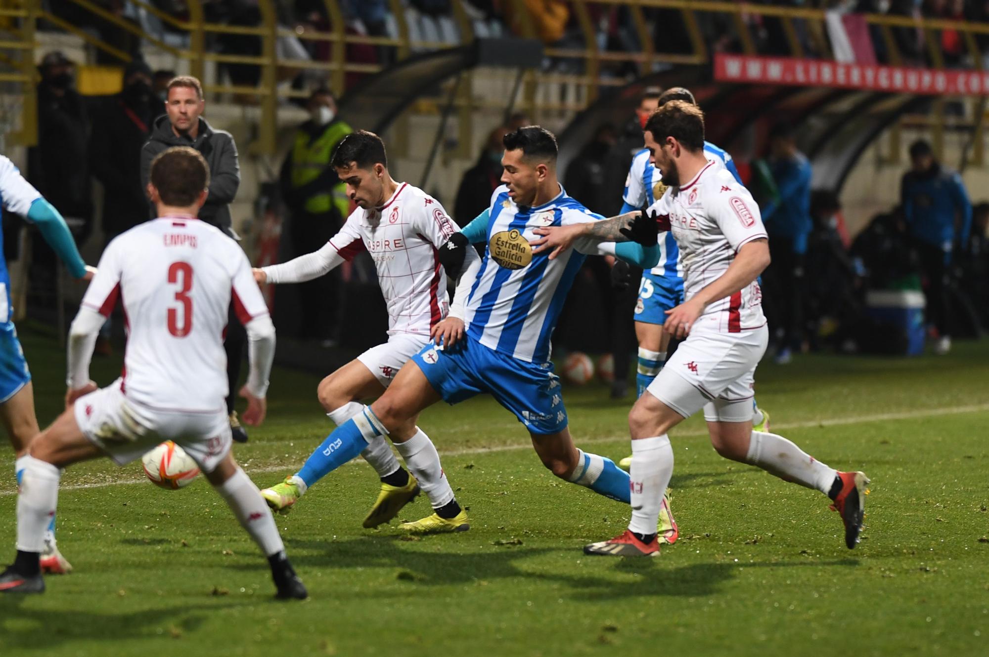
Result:
<svg viewBox="0 0 989 657"><path fill-rule="evenodd" d="M388 306L389 335L429 335L450 309L437 249L456 230L435 199L399 183L385 205L351 212L329 243L346 260L371 254Z"/></svg>

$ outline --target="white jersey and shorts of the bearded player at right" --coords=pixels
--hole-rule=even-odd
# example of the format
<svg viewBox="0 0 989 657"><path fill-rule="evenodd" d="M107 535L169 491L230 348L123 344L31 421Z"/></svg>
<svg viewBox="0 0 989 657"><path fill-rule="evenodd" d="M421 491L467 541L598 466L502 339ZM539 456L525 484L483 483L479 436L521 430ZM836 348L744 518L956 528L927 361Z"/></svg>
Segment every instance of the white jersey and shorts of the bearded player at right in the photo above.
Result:
<svg viewBox="0 0 989 657"><path fill-rule="evenodd" d="M688 300L724 275L745 244L767 239L752 195L710 162L650 210L670 217ZM649 392L684 417L703 408L708 421L751 420L756 366L768 340L762 298L753 281L707 306Z"/></svg>

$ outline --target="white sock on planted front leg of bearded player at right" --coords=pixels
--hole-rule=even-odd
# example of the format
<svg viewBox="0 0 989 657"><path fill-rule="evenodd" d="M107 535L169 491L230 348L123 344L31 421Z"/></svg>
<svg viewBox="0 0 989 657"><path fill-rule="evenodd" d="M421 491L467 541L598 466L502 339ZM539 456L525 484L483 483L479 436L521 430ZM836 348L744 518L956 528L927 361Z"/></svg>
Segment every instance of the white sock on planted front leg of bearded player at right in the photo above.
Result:
<svg viewBox="0 0 989 657"><path fill-rule="evenodd" d="M629 467L632 520L628 529L636 534L656 534L660 507L674 475L674 449L664 434L632 441L632 465Z"/></svg>

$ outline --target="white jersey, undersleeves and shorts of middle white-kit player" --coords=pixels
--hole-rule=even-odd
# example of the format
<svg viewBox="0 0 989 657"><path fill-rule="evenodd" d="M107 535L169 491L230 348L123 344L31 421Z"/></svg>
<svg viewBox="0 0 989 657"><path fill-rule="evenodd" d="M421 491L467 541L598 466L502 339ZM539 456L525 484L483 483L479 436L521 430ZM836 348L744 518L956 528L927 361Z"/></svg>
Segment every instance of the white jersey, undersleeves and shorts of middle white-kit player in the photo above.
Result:
<svg viewBox="0 0 989 657"><path fill-rule="evenodd" d="M268 282L302 283L367 251L388 306L388 342L357 357L388 386L412 355L429 341L429 331L451 312L446 273L437 250L456 232L446 210L422 190L399 183L381 207L356 208L318 251L262 268ZM467 249L465 270L477 252ZM464 277L465 279L467 277ZM461 297L463 294L456 294ZM453 308L463 317L463 310Z"/></svg>

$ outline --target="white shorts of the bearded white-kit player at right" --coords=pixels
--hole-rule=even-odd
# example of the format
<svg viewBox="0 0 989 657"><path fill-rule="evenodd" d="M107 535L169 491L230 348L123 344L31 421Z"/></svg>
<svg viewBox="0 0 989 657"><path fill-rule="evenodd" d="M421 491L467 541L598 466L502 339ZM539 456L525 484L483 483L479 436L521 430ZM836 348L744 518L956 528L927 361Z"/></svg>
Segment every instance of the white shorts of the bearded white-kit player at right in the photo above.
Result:
<svg viewBox="0 0 989 657"><path fill-rule="evenodd" d="M708 422L751 420L756 366L769 329L722 333L700 324L694 324L647 389L685 418L704 409Z"/></svg>

